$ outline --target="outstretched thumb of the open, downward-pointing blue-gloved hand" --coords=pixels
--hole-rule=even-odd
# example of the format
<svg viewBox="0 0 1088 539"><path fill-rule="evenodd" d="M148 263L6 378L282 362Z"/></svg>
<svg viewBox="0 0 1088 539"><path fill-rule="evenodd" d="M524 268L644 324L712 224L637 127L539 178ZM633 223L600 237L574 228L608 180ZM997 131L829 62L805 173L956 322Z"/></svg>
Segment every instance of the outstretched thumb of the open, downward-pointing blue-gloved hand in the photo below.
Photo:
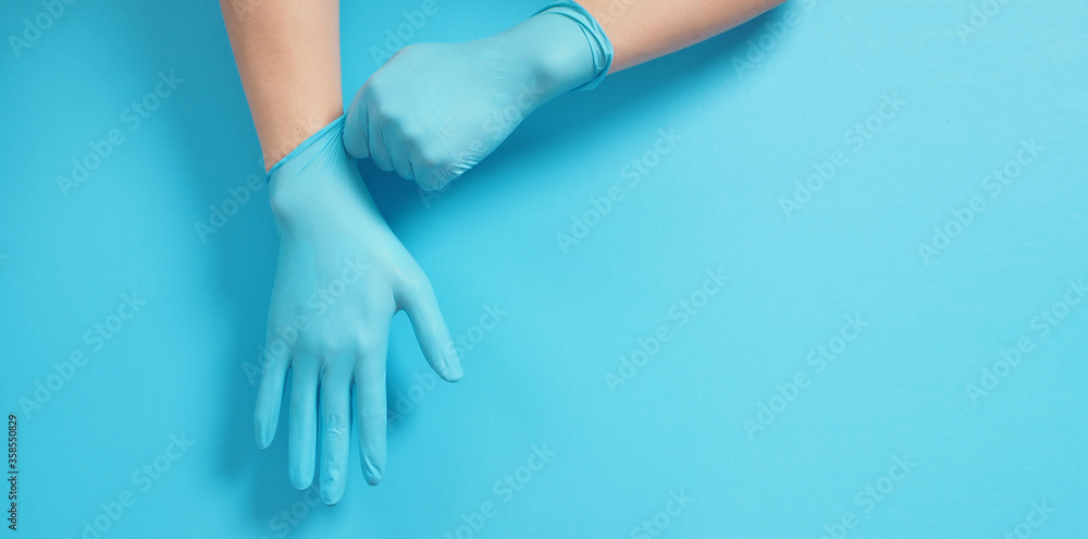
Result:
<svg viewBox="0 0 1088 539"><path fill-rule="evenodd" d="M465 372L461 362L454 348L454 340L449 336L449 328L438 310L438 301L434 297L434 289L425 280L410 286L401 294L401 308L408 313L419 347L431 368L447 382L460 380Z"/></svg>

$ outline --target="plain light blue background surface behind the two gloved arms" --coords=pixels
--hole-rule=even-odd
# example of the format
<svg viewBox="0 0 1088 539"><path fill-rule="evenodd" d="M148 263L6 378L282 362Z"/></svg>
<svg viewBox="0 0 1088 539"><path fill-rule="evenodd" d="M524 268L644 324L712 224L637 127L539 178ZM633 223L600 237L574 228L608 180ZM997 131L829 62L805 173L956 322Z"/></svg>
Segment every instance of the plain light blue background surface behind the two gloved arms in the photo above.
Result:
<svg viewBox="0 0 1088 539"><path fill-rule="evenodd" d="M420 2L345 4L349 99ZM437 4L404 42L487 35L541 2ZM102 537L444 538L485 502L497 514L462 539L651 537L634 528L655 516L662 537L815 539L846 513L846 537L1083 537L1088 304L1063 302L1088 278L1088 4L982 4L794 0L564 96L436 199L361 163L452 331L478 342L461 382L431 388L397 317L390 404L411 409L382 485L356 451L335 507L292 489L284 432L254 441L267 192L206 242L195 226L261 172L219 5L66 5L0 51L0 389L21 469L21 529L4 537L81 537L98 518ZM973 25L973 7L991 15ZM17 37L45 8L2 12ZM125 109L171 71L184 82L133 130ZM904 103L873 120L885 96ZM858 148L846 133L866 122L879 128ZM123 144L65 196L57 177L112 128ZM659 130L682 137L667 155ZM1013 167L1022 140L1038 151ZM787 216L836 151L845 164ZM656 163L634 185L632 160ZM597 219L591 199L614 185L623 198ZM984 209L924 257L975 196ZM594 225L565 252L574 219ZM704 304L707 269L730 280ZM134 292L146 305L95 351L85 331L118 329ZM702 307L679 327L670 309L692 294ZM495 304L500 322L473 330ZM1055 308L1043 334L1033 320ZM818 371L812 351L838 347L848 316L868 326ZM662 326L672 338L610 391ZM1022 338L1030 351L1003 369ZM86 363L58 378L75 351ZM1005 376L973 394L984 369ZM168 451L183 434L191 446ZM534 444L554 456L500 494ZM916 465L888 479L903 455ZM149 480L156 464L169 469ZM670 492L691 501L666 523ZM1038 528L1023 524L1033 503L1054 509Z"/></svg>

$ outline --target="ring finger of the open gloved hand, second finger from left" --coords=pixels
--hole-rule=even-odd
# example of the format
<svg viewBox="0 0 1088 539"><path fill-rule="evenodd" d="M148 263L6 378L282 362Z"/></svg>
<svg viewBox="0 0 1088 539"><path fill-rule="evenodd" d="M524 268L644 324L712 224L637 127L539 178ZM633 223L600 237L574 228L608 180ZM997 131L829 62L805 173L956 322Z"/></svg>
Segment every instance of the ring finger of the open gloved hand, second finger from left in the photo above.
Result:
<svg viewBox="0 0 1088 539"><path fill-rule="evenodd" d="M305 490L313 482L313 452L318 430L318 370L314 357L296 357L292 365L290 425L287 440L287 475Z"/></svg>

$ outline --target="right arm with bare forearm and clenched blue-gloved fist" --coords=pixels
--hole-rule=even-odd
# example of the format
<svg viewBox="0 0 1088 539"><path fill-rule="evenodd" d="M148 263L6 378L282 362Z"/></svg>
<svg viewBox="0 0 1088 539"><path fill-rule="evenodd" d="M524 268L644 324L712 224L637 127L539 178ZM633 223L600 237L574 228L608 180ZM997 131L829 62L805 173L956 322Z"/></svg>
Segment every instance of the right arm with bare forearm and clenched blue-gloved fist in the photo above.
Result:
<svg viewBox="0 0 1088 539"><path fill-rule="evenodd" d="M494 36L398 51L356 94L353 156L435 191L491 155L553 98L701 41L781 0L556 2ZM631 5L627 5L630 3ZM614 4L626 10L609 12Z"/></svg>

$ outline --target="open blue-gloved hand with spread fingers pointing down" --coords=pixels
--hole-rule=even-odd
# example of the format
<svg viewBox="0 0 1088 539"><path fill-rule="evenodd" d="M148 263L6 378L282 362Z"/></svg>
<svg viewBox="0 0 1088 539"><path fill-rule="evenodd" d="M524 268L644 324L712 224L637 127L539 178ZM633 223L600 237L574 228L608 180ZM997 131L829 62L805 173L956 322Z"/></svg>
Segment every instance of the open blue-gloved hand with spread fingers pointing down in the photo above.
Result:
<svg viewBox="0 0 1088 539"><path fill-rule="evenodd" d="M426 275L393 235L344 151L343 123L342 117L325 126L269 173L280 258L255 414L263 449L275 434L289 368L290 482L306 489L313 481L320 440L320 492L330 505L346 485L353 383L362 471L371 485L382 479L385 354L398 310L408 313L438 376L457 381L462 375Z"/></svg>

